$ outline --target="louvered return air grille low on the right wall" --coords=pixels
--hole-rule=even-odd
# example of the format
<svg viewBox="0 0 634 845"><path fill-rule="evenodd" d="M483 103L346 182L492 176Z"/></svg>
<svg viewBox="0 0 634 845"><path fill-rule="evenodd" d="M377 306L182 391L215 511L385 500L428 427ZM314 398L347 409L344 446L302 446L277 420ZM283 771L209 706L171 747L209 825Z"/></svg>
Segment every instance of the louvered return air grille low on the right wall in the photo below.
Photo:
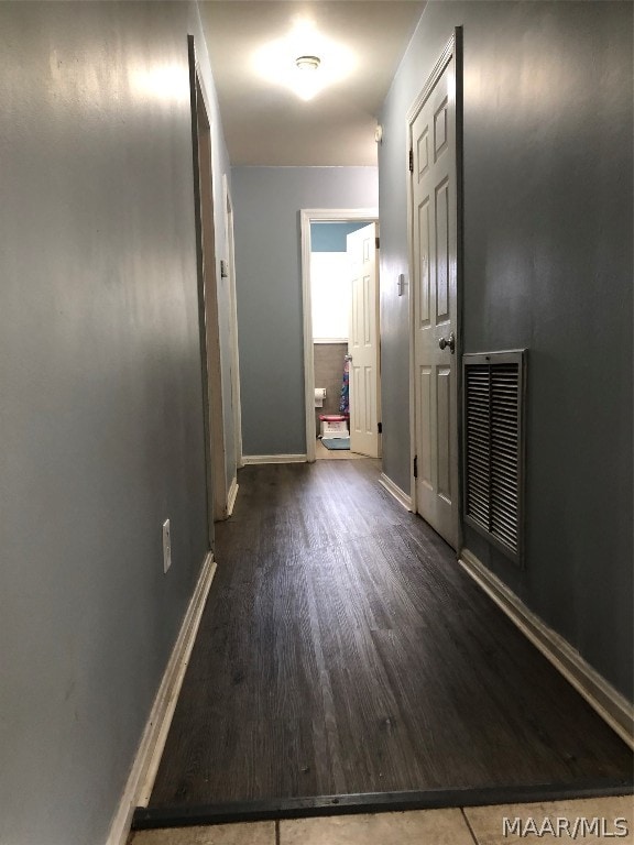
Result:
<svg viewBox="0 0 634 845"><path fill-rule="evenodd" d="M464 520L522 561L525 352L462 356Z"/></svg>

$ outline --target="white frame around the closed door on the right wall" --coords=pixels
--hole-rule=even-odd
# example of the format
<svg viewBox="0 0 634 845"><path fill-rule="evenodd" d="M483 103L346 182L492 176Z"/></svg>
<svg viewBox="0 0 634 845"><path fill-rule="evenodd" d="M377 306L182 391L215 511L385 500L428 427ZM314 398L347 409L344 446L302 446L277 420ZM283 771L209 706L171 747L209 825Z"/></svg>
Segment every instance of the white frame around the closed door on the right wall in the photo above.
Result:
<svg viewBox="0 0 634 845"><path fill-rule="evenodd" d="M445 45L434 69L429 74L425 86L423 87L418 97L409 108L407 112L407 125L406 125L406 156L409 155L411 150L411 131L412 124L416 119L418 112L425 105L426 100L430 96L431 91L442 72L447 67L448 63L453 57L456 67L456 172L457 172L457 202L456 212L458 216L457 226L457 277L456 277L456 295L457 295L457 327L456 327L456 361L459 362L462 356L462 184L461 184L461 120L462 120L462 41L461 41L461 28L456 28L453 34ZM406 158L407 160L407 158ZM413 284L415 279L415 263L417 256L414 254L414 216L413 216L413 196L412 196L412 179L407 179L407 240L408 240L408 254L409 254L409 496L412 500L413 513L418 513L418 503L416 495L416 479L414 478L414 459L416 456L416 363L415 363L415 300L417 295L416 286ZM460 432L461 432L461 375L462 369L457 365L456 367L456 408L457 408L457 438L453 443L456 453L460 454ZM461 484L460 476L460 460L458 461L458 484ZM458 550L462 545L462 522L461 522L461 491L457 492L457 501L459 507L458 518Z"/></svg>

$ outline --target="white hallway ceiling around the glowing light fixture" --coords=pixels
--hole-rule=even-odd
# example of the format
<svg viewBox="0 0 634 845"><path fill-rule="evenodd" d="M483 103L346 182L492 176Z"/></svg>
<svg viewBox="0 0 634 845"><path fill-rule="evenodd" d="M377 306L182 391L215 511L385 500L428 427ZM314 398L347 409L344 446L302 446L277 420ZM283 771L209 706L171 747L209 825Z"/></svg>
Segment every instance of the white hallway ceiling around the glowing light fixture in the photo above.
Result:
<svg viewBox="0 0 634 845"><path fill-rule="evenodd" d="M425 2L200 0L231 164L374 165L376 114ZM313 21L352 52L350 75L308 102L262 79L254 53Z"/></svg>

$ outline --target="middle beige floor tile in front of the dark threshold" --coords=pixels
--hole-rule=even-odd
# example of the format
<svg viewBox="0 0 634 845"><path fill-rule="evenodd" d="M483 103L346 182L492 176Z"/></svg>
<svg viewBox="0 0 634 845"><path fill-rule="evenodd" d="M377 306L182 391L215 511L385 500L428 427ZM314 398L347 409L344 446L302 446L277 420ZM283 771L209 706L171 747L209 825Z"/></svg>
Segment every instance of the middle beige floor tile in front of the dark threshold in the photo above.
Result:
<svg viewBox="0 0 634 845"><path fill-rule="evenodd" d="M473 845L473 839L460 810L415 810L281 821L280 845Z"/></svg>

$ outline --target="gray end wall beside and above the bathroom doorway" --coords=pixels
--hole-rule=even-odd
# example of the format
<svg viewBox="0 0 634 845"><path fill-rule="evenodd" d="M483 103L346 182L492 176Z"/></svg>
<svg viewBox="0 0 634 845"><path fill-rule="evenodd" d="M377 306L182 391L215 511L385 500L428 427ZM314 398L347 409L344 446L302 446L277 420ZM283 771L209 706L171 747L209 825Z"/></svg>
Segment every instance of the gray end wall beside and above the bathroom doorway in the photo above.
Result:
<svg viewBox="0 0 634 845"><path fill-rule="evenodd" d="M375 167L233 167L243 453L305 454L299 211L376 207Z"/></svg>

